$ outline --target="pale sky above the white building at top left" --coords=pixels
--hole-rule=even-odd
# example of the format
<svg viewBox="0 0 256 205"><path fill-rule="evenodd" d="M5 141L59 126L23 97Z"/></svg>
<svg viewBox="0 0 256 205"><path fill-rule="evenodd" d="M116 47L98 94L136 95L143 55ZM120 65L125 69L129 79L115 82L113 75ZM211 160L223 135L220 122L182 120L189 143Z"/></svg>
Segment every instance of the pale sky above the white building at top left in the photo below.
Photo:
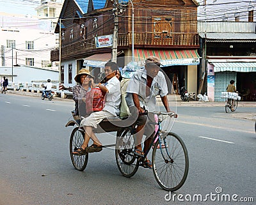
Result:
<svg viewBox="0 0 256 205"><path fill-rule="evenodd" d="M61 2L61 0L56 2ZM35 16L35 8L40 3L41 0L0 0L0 12Z"/></svg>

